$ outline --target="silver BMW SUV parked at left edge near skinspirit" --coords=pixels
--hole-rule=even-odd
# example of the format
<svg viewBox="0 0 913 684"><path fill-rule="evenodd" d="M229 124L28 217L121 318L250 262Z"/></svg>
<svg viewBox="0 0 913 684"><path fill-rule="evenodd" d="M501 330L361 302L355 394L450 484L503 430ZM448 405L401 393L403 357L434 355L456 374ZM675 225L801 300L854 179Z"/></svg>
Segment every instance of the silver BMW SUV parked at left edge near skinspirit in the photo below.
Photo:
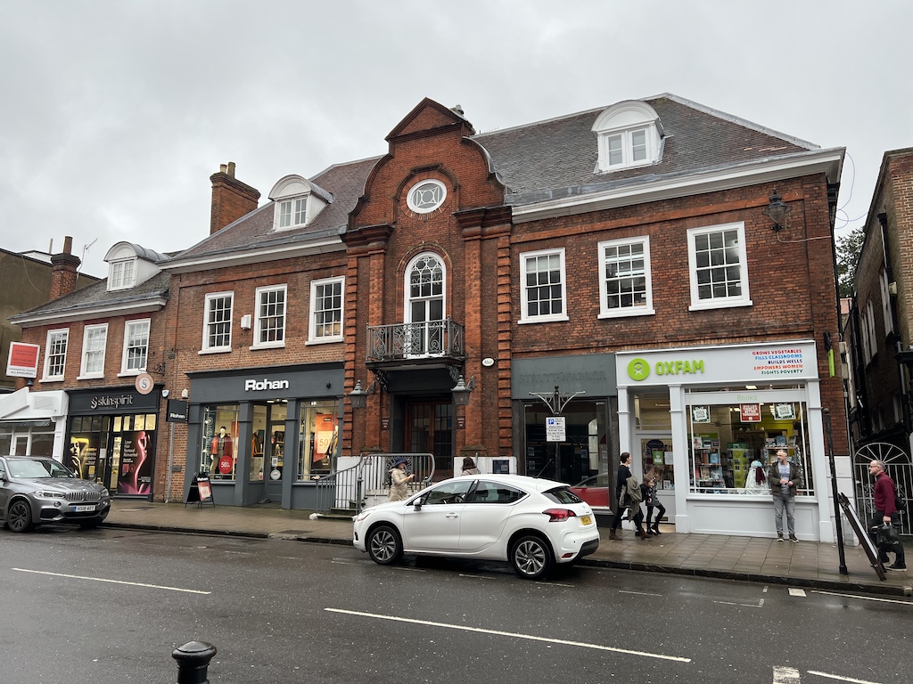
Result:
<svg viewBox="0 0 913 684"><path fill-rule="evenodd" d="M41 523L97 527L111 507L108 490L80 480L44 456L0 456L0 522L13 532Z"/></svg>

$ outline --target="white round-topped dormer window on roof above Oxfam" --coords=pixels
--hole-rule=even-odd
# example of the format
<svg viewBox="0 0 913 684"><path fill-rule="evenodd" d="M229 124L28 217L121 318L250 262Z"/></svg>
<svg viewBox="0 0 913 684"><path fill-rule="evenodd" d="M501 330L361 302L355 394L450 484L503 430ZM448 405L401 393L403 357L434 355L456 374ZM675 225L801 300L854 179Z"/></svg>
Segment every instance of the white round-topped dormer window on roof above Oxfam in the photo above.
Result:
<svg viewBox="0 0 913 684"><path fill-rule="evenodd" d="M662 156L662 124L645 102L626 100L604 109L593 132L599 145L597 173L646 166Z"/></svg>

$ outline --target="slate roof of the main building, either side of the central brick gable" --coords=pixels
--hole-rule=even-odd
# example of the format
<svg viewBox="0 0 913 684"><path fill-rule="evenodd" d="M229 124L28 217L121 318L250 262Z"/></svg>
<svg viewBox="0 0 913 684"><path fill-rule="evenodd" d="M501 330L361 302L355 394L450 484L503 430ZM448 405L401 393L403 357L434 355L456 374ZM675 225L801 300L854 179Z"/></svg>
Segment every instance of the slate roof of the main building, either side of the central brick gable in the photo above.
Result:
<svg viewBox="0 0 913 684"><path fill-rule="evenodd" d="M479 133L473 140L488 150L498 179L508 188L505 202L514 206L698 171L724 170L748 161L801 155L819 149L813 143L669 93L642 101L656 110L665 134L661 160L648 166L597 171L598 148L593 123L605 108ZM348 215L380 159L335 164L310 178L309 181L330 192L333 201L305 228L273 232L274 205L267 202L160 265L165 269L179 268L200 259L217 260L220 256L252 249L338 236L345 231Z"/></svg>

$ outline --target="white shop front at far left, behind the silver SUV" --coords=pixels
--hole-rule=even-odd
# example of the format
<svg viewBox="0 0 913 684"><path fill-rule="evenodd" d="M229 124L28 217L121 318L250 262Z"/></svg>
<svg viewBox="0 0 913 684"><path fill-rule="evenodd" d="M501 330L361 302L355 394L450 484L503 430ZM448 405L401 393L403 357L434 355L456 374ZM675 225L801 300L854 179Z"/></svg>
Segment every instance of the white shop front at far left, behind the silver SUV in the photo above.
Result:
<svg viewBox="0 0 913 684"><path fill-rule="evenodd" d="M52 456L66 461L68 397L63 390L28 388L0 396L0 454Z"/></svg>

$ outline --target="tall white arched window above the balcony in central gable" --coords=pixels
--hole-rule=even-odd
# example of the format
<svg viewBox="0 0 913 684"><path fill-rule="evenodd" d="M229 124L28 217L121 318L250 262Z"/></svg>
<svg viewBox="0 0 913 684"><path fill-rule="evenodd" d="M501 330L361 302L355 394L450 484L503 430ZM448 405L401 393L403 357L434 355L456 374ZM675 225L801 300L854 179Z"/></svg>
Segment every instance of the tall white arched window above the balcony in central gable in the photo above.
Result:
<svg viewBox="0 0 913 684"><path fill-rule="evenodd" d="M405 353L443 353L446 270L436 254L419 254L405 270Z"/></svg>

